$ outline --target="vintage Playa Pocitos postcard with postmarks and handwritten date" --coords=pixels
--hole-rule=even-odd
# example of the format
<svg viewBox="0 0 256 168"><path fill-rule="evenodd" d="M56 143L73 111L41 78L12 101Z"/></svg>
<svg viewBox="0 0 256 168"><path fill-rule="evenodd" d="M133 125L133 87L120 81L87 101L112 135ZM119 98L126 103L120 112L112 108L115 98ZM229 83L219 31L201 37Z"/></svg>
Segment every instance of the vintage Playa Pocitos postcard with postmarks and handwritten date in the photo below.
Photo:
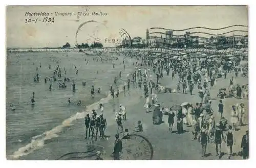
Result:
<svg viewBox="0 0 256 168"><path fill-rule="evenodd" d="M6 8L8 160L249 158L247 6Z"/></svg>

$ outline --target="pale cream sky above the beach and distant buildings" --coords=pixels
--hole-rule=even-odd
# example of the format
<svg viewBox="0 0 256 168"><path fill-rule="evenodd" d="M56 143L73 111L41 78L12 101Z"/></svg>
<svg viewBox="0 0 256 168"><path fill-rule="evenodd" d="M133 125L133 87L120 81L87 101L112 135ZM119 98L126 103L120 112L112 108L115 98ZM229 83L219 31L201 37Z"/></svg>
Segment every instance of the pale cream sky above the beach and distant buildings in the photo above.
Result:
<svg viewBox="0 0 256 168"><path fill-rule="evenodd" d="M98 41L104 46L114 45L114 41L124 38L124 29L132 38L146 37L146 29L161 27L166 29L187 29L191 27L223 28L231 25L248 26L246 6L9 6L6 10L7 47L59 47L69 42L71 46ZM47 16L25 16L30 13L49 13L54 22L42 22ZM88 16L79 16L78 13ZM106 15L95 15L106 13ZM58 13L72 13L71 16L56 16ZM94 13L94 14L93 14ZM27 22L29 19L36 20ZM39 21L41 20L41 21ZM79 30L78 27L87 21ZM48 19L49 21L49 19ZM77 32L78 30L78 32ZM197 29L191 32L213 34L232 30L248 31L244 28L225 30ZM76 36L77 32L77 36ZM176 35L183 32L174 32ZM245 35L235 32L230 35ZM202 34L200 34L203 36ZM199 35L199 36L200 36Z"/></svg>

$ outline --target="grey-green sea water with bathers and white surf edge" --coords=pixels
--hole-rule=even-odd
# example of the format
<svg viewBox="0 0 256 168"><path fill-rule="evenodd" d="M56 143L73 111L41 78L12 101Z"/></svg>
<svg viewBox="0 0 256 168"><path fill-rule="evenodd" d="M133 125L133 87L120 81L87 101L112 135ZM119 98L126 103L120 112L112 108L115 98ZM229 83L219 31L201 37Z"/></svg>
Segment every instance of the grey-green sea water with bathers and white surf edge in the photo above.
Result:
<svg viewBox="0 0 256 168"><path fill-rule="evenodd" d="M105 56L110 54L102 55L102 58ZM102 63L97 56L95 57L98 61L93 61L94 56L76 52L7 53L7 158L18 159L41 148L45 140L57 137L64 127L72 125L75 119L83 118L84 111L97 109L99 103L108 103L111 99L110 84L113 84L114 77L123 70L122 56L115 56L120 58L115 61L113 68L112 61L103 60ZM125 62L126 73L134 70L129 66L132 60L127 59ZM44 78L53 76L58 65L61 68L61 78L57 78L57 82L45 83ZM36 74L39 75L38 83L34 82ZM67 88L61 89L58 83L59 80L63 81L64 77L70 78L71 82L66 82ZM72 80L76 83L75 92L72 91ZM82 82L87 82L86 86L82 86ZM52 91L49 91L50 83ZM122 84L122 80L119 80L118 84ZM90 94L92 85L95 86L94 99ZM99 87L101 94L97 94ZM31 104L32 92L35 92L34 105ZM68 98L71 99L71 104L68 103ZM77 105L79 100L82 101L81 106ZM14 111L10 105L15 108Z"/></svg>

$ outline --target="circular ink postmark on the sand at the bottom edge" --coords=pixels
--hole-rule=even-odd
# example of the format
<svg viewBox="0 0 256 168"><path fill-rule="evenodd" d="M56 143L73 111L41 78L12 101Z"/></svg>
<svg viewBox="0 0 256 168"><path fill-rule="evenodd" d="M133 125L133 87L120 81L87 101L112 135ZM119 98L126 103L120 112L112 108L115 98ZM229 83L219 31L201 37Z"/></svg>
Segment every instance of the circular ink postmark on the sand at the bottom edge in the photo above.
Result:
<svg viewBox="0 0 256 168"><path fill-rule="evenodd" d="M122 137L122 160L152 160L153 147L142 135L131 134Z"/></svg>

